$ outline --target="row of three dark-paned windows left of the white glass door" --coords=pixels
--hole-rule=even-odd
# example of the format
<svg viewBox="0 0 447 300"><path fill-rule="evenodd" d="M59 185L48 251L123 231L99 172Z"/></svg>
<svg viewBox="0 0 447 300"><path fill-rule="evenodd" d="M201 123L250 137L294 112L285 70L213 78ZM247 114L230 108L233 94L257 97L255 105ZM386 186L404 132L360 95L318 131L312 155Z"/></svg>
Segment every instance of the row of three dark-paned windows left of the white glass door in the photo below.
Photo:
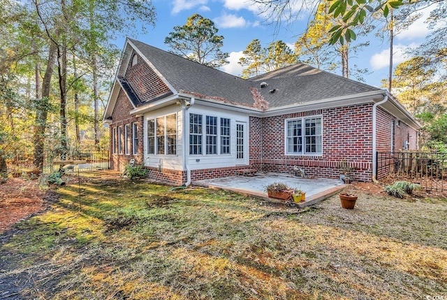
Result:
<svg viewBox="0 0 447 300"><path fill-rule="evenodd" d="M205 123L205 124L203 124ZM212 115L189 115L189 154L230 154L230 119ZM205 148L205 153L203 153Z"/></svg>

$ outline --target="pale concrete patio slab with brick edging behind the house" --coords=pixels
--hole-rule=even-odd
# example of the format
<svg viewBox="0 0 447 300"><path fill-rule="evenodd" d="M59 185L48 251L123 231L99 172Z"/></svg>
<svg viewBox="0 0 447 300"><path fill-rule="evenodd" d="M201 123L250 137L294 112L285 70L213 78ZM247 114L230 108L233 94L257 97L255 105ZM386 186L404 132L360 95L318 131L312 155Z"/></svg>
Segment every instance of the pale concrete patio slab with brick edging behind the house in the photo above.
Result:
<svg viewBox="0 0 447 300"><path fill-rule="evenodd" d="M299 178L282 173L256 173L256 176L229 176L223 178L213 178L193 181L193 185L201 187L212 187L221 190L249 194L252 197L284 203L279 199L269 198L265 187L270 183L284 183L291 188L296 188L306 192L306 201L296 203L299 208L314 205L340 190L345 185L342 180L328 178Z"/></svg>

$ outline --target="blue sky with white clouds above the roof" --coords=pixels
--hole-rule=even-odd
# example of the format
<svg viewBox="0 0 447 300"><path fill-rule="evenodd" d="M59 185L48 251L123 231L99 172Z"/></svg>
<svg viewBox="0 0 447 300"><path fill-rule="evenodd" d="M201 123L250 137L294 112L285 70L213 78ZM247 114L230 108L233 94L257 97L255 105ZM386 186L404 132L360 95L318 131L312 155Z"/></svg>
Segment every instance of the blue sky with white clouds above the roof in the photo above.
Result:
<svg viewBox="0 0 447 300"><path fill-rule="evenodd" d="M298 36L305 31L309 20L309 10L301 10L300 18L293 24L283 22L281 27L265 24L265 15L259 13L263 8L244 0L153 0L152 3L156 7L156 26L149 28L145 34L135 31L131 33L132 38L168 50L163 41L173 31L173 27L183 25L189 16L199 13L213 20L219 34L224 36L222 50L230 54L230 64L221 67L221 70L237 76L242 73L242 67L237 62L242 51L254 38L258 38L264 47L272 41L282 40L292 48ZM298 9L297 7L296 10ZM424 17L396 36L394 66L406 60L406 48L423 43L425 36L430 34L430 29L427 29L424 22L429 13L428 10L423 11ZM350 64L368 69L370 73L364 76L365 82L380 87L381 79L388 77L388 41L381 41L374 33L369 34L365 40L369 41L369 46L362 48L357 57L351 57ZM119 48L123 45L124 39L117 40ZM332 72L339 75L341 73L339 70Z"/></svg>

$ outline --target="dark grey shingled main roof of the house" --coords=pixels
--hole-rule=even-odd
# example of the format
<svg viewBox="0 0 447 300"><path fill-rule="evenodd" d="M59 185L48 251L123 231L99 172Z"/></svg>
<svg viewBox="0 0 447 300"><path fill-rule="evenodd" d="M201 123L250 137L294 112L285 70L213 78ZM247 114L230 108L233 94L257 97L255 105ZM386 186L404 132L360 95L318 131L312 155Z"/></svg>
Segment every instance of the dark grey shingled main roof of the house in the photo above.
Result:
<svg viewBox="0 0 447 300"><path fill-rule="evenodd" d="M258 89L270 108L299 105L335 97L352 97L381 91L355 80L298 63L248 80L192 62L170 52L129 38L177 92L201 99L219 99L253 106L253 88ZM268 86L261 88L261 83ZM272 92L274 90L274 92Z"/></svg>

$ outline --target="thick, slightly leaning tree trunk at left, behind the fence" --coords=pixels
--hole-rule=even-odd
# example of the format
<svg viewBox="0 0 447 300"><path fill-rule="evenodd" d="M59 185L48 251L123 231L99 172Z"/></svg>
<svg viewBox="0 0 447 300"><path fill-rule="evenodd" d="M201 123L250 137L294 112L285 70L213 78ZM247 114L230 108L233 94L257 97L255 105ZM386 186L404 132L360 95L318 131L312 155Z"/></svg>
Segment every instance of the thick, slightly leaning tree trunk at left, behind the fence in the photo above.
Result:
<svg viewBox="0 0 447 300"><path fill-rule="evenodd" d="M34 166L37 169L43 169L43 147L45 141L45 128L47 127L48 104L50 97L51 78L54 71L54 59L57 55L57 45L50 41L50 50L48 52L47 69L43 76L42 90L36 92L36 119L34 127ZM39 80L40 81L40 80ZM37 83L36 83L37 85ZM40 90L40 89L37 89Z"/></svg>

